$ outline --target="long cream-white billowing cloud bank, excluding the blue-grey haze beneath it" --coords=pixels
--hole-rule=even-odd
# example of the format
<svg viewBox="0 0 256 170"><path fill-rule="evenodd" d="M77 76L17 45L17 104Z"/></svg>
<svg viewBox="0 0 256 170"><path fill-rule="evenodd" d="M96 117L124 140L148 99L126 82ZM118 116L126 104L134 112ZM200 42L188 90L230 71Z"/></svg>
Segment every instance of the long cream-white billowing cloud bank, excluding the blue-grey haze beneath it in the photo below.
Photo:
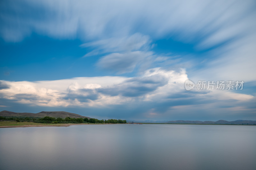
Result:
<svg viewBox="0 0 256 170"><path fill-rule="evenodd" d="M1 89L1 98L15 103L48 107L108 107L138 103L156 110L172 106L213 104L231 100L243 103L254 96L228 90L185 91L186 71L148 69L137 77L78 77L55 81L2 81L9 88ZM108 80L108 81L107 81ZM214 102L216 100L216 102ZM139 106L138 106L139 107ZM148 108L148 107L146 107ZM161 109L162 108L162 109ZM152 108L151 108L152 109Z"/></svg>

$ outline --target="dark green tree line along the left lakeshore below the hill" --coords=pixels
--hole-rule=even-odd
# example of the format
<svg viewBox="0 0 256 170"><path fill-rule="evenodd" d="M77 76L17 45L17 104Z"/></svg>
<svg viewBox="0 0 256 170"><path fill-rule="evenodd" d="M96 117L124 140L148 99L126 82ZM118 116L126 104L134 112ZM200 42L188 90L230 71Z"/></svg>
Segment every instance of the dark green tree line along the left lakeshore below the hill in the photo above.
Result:
<svg viewBox="0 0 256 170"><path fill-rule="evenodd" d="M87 117L85 118L71 118L71 117L66 117L66 118L55 118L55 117L3 117L0 116L1 121L17 121L17 122L35 122L35 123L93 123L93 124L126 124L126 120L121 120L121 119L108 119L108 120L98 120L95 118L90 118L88 119Z"/></svg>

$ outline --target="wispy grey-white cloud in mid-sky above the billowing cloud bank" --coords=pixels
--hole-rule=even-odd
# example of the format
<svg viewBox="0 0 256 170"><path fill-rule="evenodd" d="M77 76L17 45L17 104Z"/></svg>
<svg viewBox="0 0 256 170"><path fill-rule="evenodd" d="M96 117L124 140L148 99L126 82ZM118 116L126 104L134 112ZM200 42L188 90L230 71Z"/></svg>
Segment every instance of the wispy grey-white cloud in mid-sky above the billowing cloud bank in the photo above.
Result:
<svg viewBox="0 0 256 170"><path fill-rule="evenodd" d="M82 47L92 47L94 50L84 57L105 54L97 62L101 69L117 74L130 73L136 66L145 66L152 60L153 52L148 51L151 47L149 36L135 33L121 38L110 38L82 44ZM109 53L106 55L106 53ZM143 62L142 62L143 61Z"/></svg>

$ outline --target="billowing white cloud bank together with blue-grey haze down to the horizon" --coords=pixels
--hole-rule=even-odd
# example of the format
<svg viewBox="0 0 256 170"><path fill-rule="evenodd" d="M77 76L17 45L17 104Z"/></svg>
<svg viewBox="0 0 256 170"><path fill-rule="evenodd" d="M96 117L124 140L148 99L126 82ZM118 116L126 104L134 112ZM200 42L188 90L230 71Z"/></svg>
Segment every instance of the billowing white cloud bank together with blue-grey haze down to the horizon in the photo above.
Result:
<svg viewBox="0 0 256 170"><path fill-rule="evenodd" d="M0 89L1 105L77 110L94 117L123 117L158 120L235 119L241 114L251 118L255 113L255 96L242 90L186 91L188 75L160 67L148 69L136 77L77 77L54 81L2 81L9 86ZM244 87L244 89L246 89ZM234 112L235 111L235 112ZM246 113L245 113L246 112ZM94 115L94 116L93 116Z"/></svg>

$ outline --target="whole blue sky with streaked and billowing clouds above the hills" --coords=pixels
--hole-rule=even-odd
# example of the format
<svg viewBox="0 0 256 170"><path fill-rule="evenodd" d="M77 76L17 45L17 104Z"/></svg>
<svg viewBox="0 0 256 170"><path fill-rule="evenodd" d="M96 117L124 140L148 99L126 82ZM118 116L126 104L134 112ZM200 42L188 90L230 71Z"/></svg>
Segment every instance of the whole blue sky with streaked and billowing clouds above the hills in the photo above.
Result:
<svg viewBox="0 0 256 170"><path fill-rule="evenodd" d="M254 0L1 0L0 110L256 120L255 27Z"/></svg>

